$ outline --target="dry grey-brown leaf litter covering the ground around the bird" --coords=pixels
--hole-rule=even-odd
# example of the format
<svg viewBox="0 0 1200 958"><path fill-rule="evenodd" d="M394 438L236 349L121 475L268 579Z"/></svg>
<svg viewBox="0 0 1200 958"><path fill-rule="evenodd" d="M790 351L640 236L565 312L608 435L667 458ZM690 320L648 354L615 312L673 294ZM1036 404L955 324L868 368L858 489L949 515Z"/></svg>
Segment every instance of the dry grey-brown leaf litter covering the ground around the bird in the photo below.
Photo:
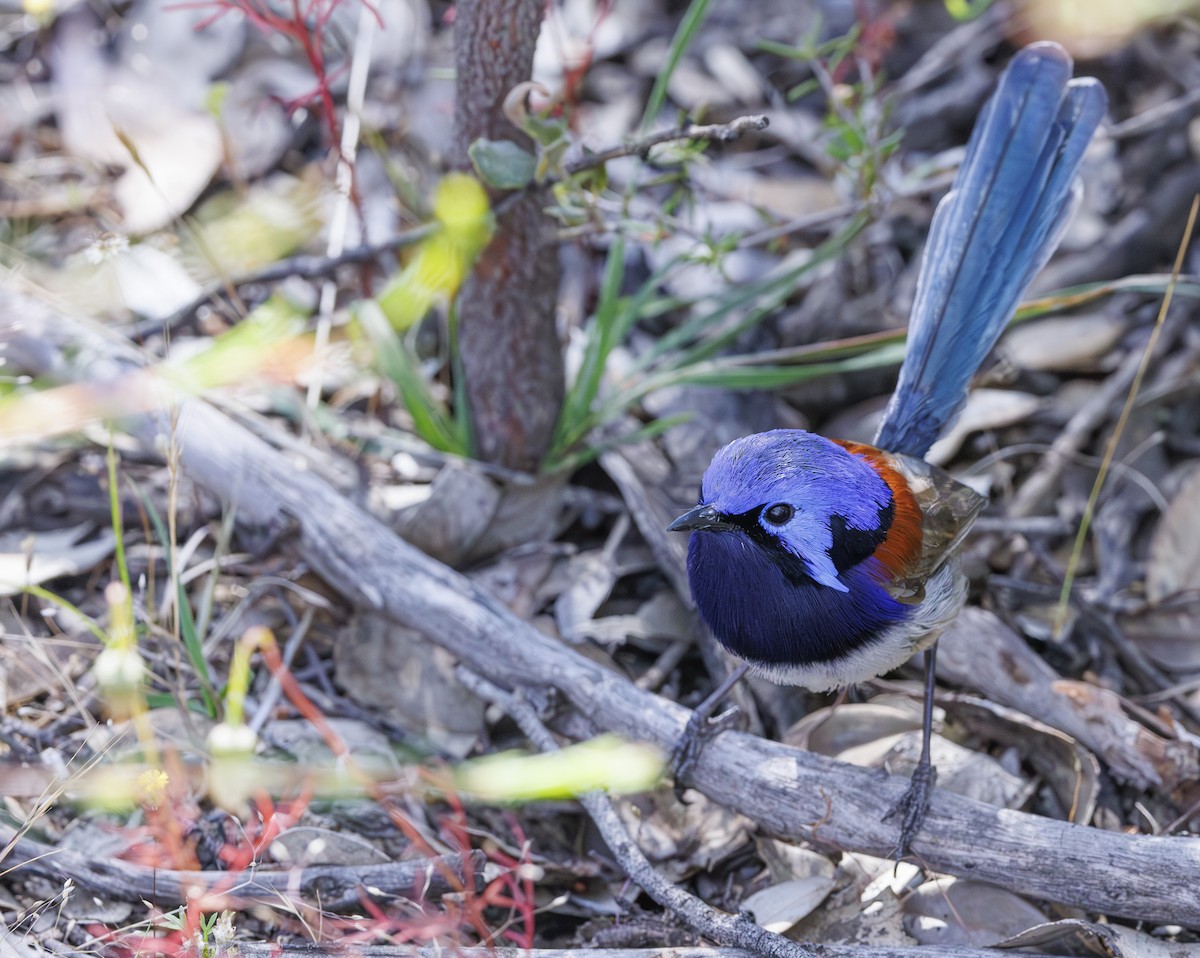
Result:
<svg viewBox="0 0 1200 958"><path fill-rule="evenodd" d="M346 41L359 18L353 4L334 6L330 91L341 97L341 67L352 49ZM656 283L655 309L611 357L606 390L618 390L664 336L722 303L732 285L762 281L781 262L804 262L845 221L842 206L859 200L822 142L829 130L818 91L802 90L787 102L788 90L799 89L811 71L802 59L768 53L758 43L802 41L804 25L794 22L792 5L713 6L671 77L670 110L728 119L769 109L773 122L755 149L710 150L690 168L672 167L671 151L662 151L655 162L672 175L634 199L594 194L584 218L602 228L570 240L582 264L584 310L599 295L605 235L623 215L626 232L641 240L636 250L630 244L622 263L623 294L680 263ZM854 25L842 6L821 6L828 7L823 37ZM536 77L560 90L584 76L582 92L574 94L572 136L592 149L612 146L637 124L677 12L668 5L623 2L564 2L552 11ZM359 180L368 192L348 230L352 245L425 222L436 157L446 152L450 138L452 104L439 76L452 61L449 11L437 7L431 17L421 5L397 0L378 5L377 12L389 42L372 47ZM944 188L926 173L953 166L953 156L932 151L950 151L965 138L994 82L991 53L1003 40L1002 24L991 14L955 24L930 7L876 12L859 28L860 62L904 84L895 115L908 118L912 136L881 168L886 190L870 227L840 256L798 279L764 322L736 330L725 349L787 349L882 334L906 315L931 204ZM187 5L174 11L149 0L103 20L77 6L44 31L31 22L10 22L8 30L14 43L4 68L7 78L26 84L28 96L19 112L4 110L0 126L0 202L13 214L4 224L6 286L17 288L18 276L36 285L74 313L102 323L101 340L121 339L134 324L155 321L144 327L152 333L142 345L151 359L162 359L168 341L174 349L181 343L203 348L263 301L274 281L256 275L287 257L320 256L332 222L334 174L311 96L314 79L298 50L245 18L206 17L203 7ZM872 32L878 30L884 32ZM872 46L880 36L888 38ZM965 37L966 52L943 62L934 44L956 37ZM1171 65L1184 47L1183 28L1165 26L1127 47L1123 59L1088 61L1081 72L1105 80L1115 120L1128 122L1147 112L1147 102L1180 94ZM914 65L924 72L907 74ZM924 79L905 79L918 73ZM1141 89L1127 89L1130 77ZM1170 329L1170 348L1151 367L1120 468L1102 498L1109 521L1085 553L1069 639L1046 623L1070 532L1120 407L1099 403L1102 387L1115 382L1122 363L1141 348L1169 264L1163 250L1178 239L1178 204L1154 196L1164 182L1180 194L1194 188L1195 178L1187 180L1183 172L1194 163L1188 148L1178 145L1194 132L1188 109L1164 113L1141 133L1097 146L1087 176L1090 187L1102 188L1088 188L1082 214L1039 289L1141 273L1159 280L1082 312L1014 327L985 371L988 388L976 391L937 454L956 474L990 489L997 519L968 545L972 603L986 611L964 616L944 641L935 750L940 784L996 807L1139 834L1188 834L1200 827L1200 583L1192 534L1200 528L1200 411L1195 306L1187 298L1176 305L1182 318ZM679 170L686 175L674 175ZM646 179L632 157L614 161L608 174L620 190ZM689 188L680 191L680 180ZM746 235L775 228L781 229L775 239L743 245ZM1159 245L1140 243L1146 235L1159 238ZM344 301L364 283L388 279L377 273L368 280L364 262L325 270L337 277ZM320 280L300 269L293 271L296 277L316 303ZM208 301L192 305L209 291L216 292ZM421 371L444 389L451 359L448 327L439 318L436 310L413 330L409 345ZM283 448L320 450L298 456L296 468L320 468L313 463L322 459L336 463L348 498L370 502L401 534L467 569L522 618L631 679L653 676L658 691L689 703L710 688L716 659L700 654L691 641L680 543L662 534L666 521L694 502L712 451L738 435L790 425L870 438L870 407L878 409L893 376L881 364L782 393L671 385L634 409L648 420L686 412L688 421L640 447L602 451L596 463L570 475L529 481L416 441L394 384L361 360L361 343L341 327L335 340L350 375L336 384L344 391L331 393L317 409L301 401L300 376L250 377L227 383L212 397L240 409ZM14 387L30 378L40 385L106 382L104 351L95 343L31 341L23 339L19 319L10 319L4 349ZM7 798L6 826L28 824L53 845L67 843L71 822L79 819L96 834L115 837L104 855L130 858L144 851L146 832L138 830L150 827L145 815L160 827L157 833L151 828L150 843L167 842L166 819L156 819L149 804L136 812L70 801L43 808L28 782L17 788L16 773L20 765L38 771L36 780L47 789L64 782L76 789L89 766L146 758L144 730L106 726L86 671L97 651L86 622L104 621L100 595L118 575L107 484L96 480L90 493L72 492L97 474L96 454L106 442L101 432L2 448L0 534L8 545L0 551L11 568L0 576L10 595L0 639L0 782L12 789L0 785L0 791ZM30 448L35 461L26 455ZM260 708L254 722L262 741L289 762L323 766L360 756L382 770L378 776L398 777L415 758L436 767L527 744L510 722L463 690L455 663L419 633L398 633L337 597L324 598L319 574L298 558L288 529L235 528L244 551L230 553L220 535L202 533L224 521L226 507L178 475L169 450L160 450L167 465L139 462L139 455L122 456L120 545L140 597L140 641L156 696L145 724L157 748L203 762L199 743L215 717L202 714L202 689L224 684L230 640L251 622L302 637L290 669L323 719L301 718L299 699L269 696L265 669L250 693L252 711ZM1038 499L1033 511L1009 515L1006 504L1046 474L1056 480L1054 495ZM64 495L48 495L59 486ZM92 502L96 492L102 495ZM80 521L89 502L91 513ZM190 540L197 545L184 568L174 569ZM175 587L173 575L181 593L164 601L164 591ZM31 593L30 586L47 593ZM50 593L66 604L55 604ZM311 595L322 603L310 601ZM199 619L193 627L202 628L198 636L203 670L188 660L179 637L186 629L156 618L156 609L178 598ZM308 609L317 611L304 630L299 625ZM916 673L869 683L852 695L857 699L836 702L798 690L762 694L757 720L784 741L904 773L917 741ZM550 700L539 708L556 713ZM805 715L799 722L798 712ZM322 722L329 729L322 731ZM587 717L559 722L566 734L589 734ZM341 758L329 747L330 735L346 747ZM200 848L198 836L210 833L205 815L212 809L188 776L179 776L179 789L172 814L187 837L184 844ZM1051 922L1058 915L1051 903L961 876L922 879L911 866L895 869L862 854L784 844L696 792L686 797L680 803L661 789L620 800L634 840L672 881L720 908L744 908L799 940L1004 942L1064 952L1082 942L1129 956L1182 953L1195 941L1194 927ZM415 855L421 840L454 848L448 836L469 833L492 855L490 874L540 876L534 897L541 946L604 940L623 927L641 929L655 944L678 934L628 886L572 802L546 800L498 812L463 810L452 798L409 798L406 807L416 825L413 834L400 836L370 802L318 796L288 820L277 848L269 848L276 862L352 866ZM277 812L283 814L282 804ZM253 814L259 824L276 820L264 807ZM233 840L221 836L215 848L232 848ZM98 842L94 848L101 854ZM133 921L151 920L142 904L131 909L110 892L71 911L70 921L53 922L44 920L53 888L18 873L0 885L0 920L22 929L31 946L89 946L101 927L116 928L131 914ZM38 916L41 922L30 921ZM503 910L488 917L499 924ZM238 932L246 940L299 935L265 909L239 920Z"/></svg>

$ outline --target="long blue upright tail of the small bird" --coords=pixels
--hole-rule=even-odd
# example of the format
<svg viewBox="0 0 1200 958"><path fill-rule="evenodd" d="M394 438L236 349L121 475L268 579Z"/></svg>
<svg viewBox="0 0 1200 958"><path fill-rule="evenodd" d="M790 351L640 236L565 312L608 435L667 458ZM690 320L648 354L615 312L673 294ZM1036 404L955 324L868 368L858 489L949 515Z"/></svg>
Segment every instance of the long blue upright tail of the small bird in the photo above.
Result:
<svg viewBox="0 0 1200 958"><path fill-rule="evenodd" d="M1072 80L1072 66L1056 43L1026 47L976 122L934 214L881 449L925 455L1062 238L1075 172L1106 106L1104 88Z"/></svg>

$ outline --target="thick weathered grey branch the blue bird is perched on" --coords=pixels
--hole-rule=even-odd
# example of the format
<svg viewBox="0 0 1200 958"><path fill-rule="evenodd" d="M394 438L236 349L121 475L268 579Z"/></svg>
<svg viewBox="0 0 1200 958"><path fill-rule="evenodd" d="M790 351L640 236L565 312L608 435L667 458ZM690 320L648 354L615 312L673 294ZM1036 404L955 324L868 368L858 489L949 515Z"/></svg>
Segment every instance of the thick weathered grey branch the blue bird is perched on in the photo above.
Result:
<svg viewBox="0 0 1200 958"><path fill-rule="evenodd" d="M168 427L144 420L138 432L155 443ZM175 430L194 481L234 504L242 522L293 523L305 559L349 601L419 629L493 682L558 689L596 730L664 749L683 731L688 709L542 635L212 407L186 403ZM770 834L882 857L895 844L883 814L907 783L725 732L704 748L689 784ZM1200 924L1200 839L1087 828L938 790L913 850L931 868L1020 894Z"/></svg>

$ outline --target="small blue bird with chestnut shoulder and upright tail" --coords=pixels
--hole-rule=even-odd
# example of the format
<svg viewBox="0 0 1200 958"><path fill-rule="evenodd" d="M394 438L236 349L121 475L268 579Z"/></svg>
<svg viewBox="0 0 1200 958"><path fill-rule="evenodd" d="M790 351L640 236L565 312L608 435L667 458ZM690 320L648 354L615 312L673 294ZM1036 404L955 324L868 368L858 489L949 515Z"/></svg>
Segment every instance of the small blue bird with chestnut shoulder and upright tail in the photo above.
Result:
<svg viewBox="0 0 1200 958"><path fill-rule="evenodd" d="M768 678L832 689L926 649L922 756L887 816L902 819L900 856L935 777L935 643L967 594L956 551L984 505L922 457L1070 218L1106 104L1097 80L1070 79L1072 66L1055 43L1026 47L976 124L934 215L875 447L803 430L736 439L704 472L696 508L668 527L691 531L688 577L713 635Z"/></svg>

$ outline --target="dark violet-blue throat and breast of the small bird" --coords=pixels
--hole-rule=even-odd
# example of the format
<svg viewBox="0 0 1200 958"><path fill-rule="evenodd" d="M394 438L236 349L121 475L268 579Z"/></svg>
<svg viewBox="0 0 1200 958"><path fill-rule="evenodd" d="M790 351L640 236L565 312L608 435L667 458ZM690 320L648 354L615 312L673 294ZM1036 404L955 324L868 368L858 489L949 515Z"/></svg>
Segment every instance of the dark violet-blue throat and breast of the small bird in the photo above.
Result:
<svg viewBox="0 0 1200 958"><path fill-rule="evenodd" d="M700 612L730 652L763 665L830 661L911 615L881 582L877 559L841 574L846 592L818 585L799 562L740 531L694 532L688 577Z"/></svg>

